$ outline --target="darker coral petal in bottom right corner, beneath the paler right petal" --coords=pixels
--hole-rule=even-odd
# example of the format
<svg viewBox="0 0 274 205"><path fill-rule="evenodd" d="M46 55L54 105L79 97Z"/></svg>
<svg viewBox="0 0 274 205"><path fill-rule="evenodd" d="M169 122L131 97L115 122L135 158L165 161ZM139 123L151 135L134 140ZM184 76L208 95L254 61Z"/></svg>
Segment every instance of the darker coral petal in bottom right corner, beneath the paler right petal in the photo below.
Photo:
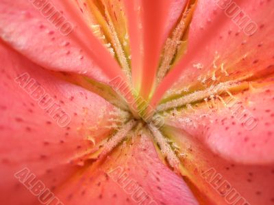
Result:
<svg viewBox="0 0 274 205"><path fill-rule="evenodd" d="M179 145L185 178L201 204L273 204L273 165L233 163L184 131L169 128L169 135Z"/></svg>

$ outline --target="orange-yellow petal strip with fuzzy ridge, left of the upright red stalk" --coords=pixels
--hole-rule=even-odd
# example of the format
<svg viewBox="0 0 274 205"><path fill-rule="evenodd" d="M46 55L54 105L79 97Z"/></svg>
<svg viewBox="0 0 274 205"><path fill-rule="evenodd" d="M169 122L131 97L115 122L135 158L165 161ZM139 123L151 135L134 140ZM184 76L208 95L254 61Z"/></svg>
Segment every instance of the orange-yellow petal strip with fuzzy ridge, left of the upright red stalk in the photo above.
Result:
<svg viewBox="0 0 274 205"><path fill-rule="evenodd" d="M84 14L90 24L90 28L108 49L110 55L116 57L119 61L128 82L131 83L129 59L127 59L127 55L129 54L129 45L126 38L127 27L121 1L78 1L82 5L88 5L86 10L84 10ZM122 36L125 36L125 38L122 38Z"/></svg>

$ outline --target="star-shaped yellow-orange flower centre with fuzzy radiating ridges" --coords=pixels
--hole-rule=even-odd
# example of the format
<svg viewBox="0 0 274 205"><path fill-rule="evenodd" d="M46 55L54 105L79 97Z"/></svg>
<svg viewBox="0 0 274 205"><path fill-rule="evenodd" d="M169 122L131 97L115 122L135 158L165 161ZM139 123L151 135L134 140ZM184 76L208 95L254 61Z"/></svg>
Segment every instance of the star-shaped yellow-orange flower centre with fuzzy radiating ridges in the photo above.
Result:
<svg viewBox="0 0 274 205"><path fill-rule="evenodd" d="M142 98L142 94L139 93L142 89L134 90L136 87L141 87L140 85L133 87L132 51L129 47L129 31L122 1L90 0L84 3L84 1L79 0L78 2L81 4L79 6L93 33L99 38L105 48L108 49L110 55L119 63L129 83L129 85L125 86L123 82L116 82L116 79L114 79L113 84L118 83L120 85L113 86L117 87L117 90L113 90L110 85L103 85L86 77L77 76L73 79L73 83L76 81L77 84L99 94L99 96L112 103L116 107L114 115L119 116L108 119L108 122L110 122L108 126L114 131L108 139L96 145L96 152L92 154L95 159L102 159L129 137L146 133L154 141L160 159L174 169L175 172L179 173L181 164L177 156L176 146L174 146L175 143L166 137L166 133L164 133L164 115L166 113L172 114L173 109L184 109L185 107L186 109L193 109L193 105L200 104L201 102L206 103L208 109L212 109L215 106L215 100L218 99L225 106L225 101L223 100L225 96L232 96L233 91L242 92L248 88L252 89L251 82L254 79L254 75L236 76L238 79L235 76L231 77L229 74L232 74L232 72L225 68L223 61L217 65L219 57L216 57L213 61L212 69L208 68L208 73L212 71L212 76L198 77L197 82L188 85L185 90L170 90L162 102L160 102L160 105L156 109L153 109L149 107L149 100L153 96L153 90L160 85L166 74L173 69L173 66L185 54L188 44L189 25L197 1L187 1L181 16L179 16L177 23L175 23L166 42L164 42L158 70L155 73L155 79L153 79L153 87L149 88L151 90L147 92L149 93L148 98ZM140 29L142 29L142 20L139 19L137 21ZM143 36L140 38L143 38ZM142 46L140 45L141 54L143 53ZM140 62L140 68L138 68L140 72L145 72L145 70L142 70L144 69L142 68L143 63ZM203 65L197 63L193 67L201 70ZM220 80L218 77L222 74L225 77ZM139 83L142 84L143 80ZM142 87L144 86L142 85ZM134 96L130 101L126 98L127 102L125 94L121 94L121 90L124 87L131 87L132 90L129 90L129 92Z"/></svg>

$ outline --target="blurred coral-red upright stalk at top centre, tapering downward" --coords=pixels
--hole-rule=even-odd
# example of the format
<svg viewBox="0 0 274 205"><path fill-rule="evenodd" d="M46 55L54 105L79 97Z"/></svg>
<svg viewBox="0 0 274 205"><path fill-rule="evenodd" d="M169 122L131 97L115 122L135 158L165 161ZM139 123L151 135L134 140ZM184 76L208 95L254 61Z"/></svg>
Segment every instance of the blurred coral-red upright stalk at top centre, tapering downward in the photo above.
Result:
<svg viewBox="0 0 274 205"><path fill-rule="evenodd" d="M125 3L129 19L134 85L138 86L136 89L140 88L143 97L148 98L155 81L160 50L166 37L164 29L171 1Z"/></svg>

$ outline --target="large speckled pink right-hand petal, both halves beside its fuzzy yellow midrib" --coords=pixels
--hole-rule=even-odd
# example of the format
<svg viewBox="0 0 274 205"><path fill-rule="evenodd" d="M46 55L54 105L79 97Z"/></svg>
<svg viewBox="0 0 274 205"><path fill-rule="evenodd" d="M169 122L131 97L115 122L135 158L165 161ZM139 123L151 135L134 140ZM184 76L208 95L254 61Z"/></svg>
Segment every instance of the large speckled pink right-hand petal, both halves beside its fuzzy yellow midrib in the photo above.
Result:
<svg viewBox="0 0 274 205"><path fill-rule="evenodd" d="M239 3L236 8L242 8L241 11L258 24L258 31L247 36L247 33L235 25L235 20L226 17L227 24L216 30L217 35L209 37L211 40L205 43L204 49L197 51L193 60L183 68L182 78L169 93L171 98L175 92L182 98L188 98L188 94L206 92L212 86L236 83L234 88L224 86L221 92L208 92L208 96L197 93L197 99L201 101L186 102L183 112L179 111L175 121L176 126L206 141L214 152L242 163L264 164L274 161L271 148L271 76L274 64L271 51L274 41L271 33L274 27L269 20L274 12L270 9L271 3L273 2ZM205 18L202 10L207 7L210 12ZM219 5L212 4L211 7L208 2L199 1L189 41L195 44L199 36L195 33L206 29L205 25L210 25L208 19L213 19L220 12L224 11ZM235 19L238 18L240 17ZM231 38L232 42L229 41ZM253 124L253 127L247 126L248 124Z"/></svg>

